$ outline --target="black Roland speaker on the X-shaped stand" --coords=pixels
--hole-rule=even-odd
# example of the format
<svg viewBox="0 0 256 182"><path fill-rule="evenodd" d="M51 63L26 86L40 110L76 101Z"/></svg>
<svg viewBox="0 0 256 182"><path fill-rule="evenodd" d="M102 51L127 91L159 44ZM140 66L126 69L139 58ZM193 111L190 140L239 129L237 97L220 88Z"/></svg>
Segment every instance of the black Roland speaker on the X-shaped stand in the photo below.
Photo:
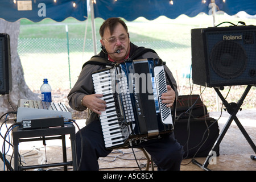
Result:
<svg viewBox="0 0 256 182"><path fill-rule="evenodd" d="M256 26L192 29L191 52L194 84L256 84Z"/></svg>

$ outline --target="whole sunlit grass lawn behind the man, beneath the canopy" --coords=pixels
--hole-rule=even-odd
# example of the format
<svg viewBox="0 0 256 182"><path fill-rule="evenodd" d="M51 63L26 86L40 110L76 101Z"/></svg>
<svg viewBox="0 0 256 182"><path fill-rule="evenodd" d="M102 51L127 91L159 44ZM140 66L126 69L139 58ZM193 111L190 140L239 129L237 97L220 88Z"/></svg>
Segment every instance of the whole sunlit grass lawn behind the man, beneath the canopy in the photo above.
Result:
<svg viewBox="0 0 256 182"><path fill-rule="evenodd" d="M97 52L100 51L98 30L103 21L101 18L95 19ZM255 19L242 19L228 15L216 16L217 24L221 22L237 24L238 21L256 24ZM159 56L166 61L180 89L183 89L180 90L180 93L190 94L188 87L191 83L188 82L188 79L184 79L183 75L188 72L187 68L191 65L191 29L213 26L212 16L200 14L190 18L181 15L176 19L160 16L151 21L138 18L133 22L126 21L126 23L131 42L138 46L155 49ZM67 47L67 33L65 32L66 24L69 30L69 49ZM225 23L221 26L229 26L229 24ZM94 55L90 19L84 22L74 18L67 18L63 22L44 19L38 23L22 19L20 20L19 39L19 56L26 83L31 90L40 89L43 78L48 78L53 89L69 89L69 72L71 74L71 86L73 86L81 71L81 65ZM85 49L82 52L84 39L86 40ZM193 89L196 94L200 93L198 86L194 86ZM253 90L255 92L255 88ZM205 92L213 93L212 89L208 88ZM215 97L214 93L213 95ZM209 102L209 97L207 102ZM208 107L214 107L216 103L213 101L207 104Z"/></svg>

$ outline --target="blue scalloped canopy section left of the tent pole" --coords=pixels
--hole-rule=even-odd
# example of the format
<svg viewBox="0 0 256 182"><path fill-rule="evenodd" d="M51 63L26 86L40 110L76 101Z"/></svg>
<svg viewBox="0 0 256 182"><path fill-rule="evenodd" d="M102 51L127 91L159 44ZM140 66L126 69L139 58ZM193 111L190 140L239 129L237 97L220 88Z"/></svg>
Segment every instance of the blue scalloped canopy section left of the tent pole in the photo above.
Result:
<svg viewBox="0 0 256 182"><path fill-rule="evenodd" d="M32 22L51 18L56 22L61 22L70 16L80 21L86 20L86 0L0 1L0 18L9 22L15 22L21 18L29 19Z"/></svg>

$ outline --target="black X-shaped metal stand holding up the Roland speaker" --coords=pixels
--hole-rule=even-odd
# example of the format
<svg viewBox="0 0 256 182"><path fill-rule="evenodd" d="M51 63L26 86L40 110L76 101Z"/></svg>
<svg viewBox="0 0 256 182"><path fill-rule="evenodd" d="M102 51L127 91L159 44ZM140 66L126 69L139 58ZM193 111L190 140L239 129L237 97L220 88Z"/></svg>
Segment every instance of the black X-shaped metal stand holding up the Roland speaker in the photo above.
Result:
<svg viewBox="0 0 256 182"><path fill-rule="evenodd" d="M214 88L214 90L217 92L218 96L221 98L221 101L223 102L224 106L226 107L226 110L228 111L228 113L230 114L230 117L228 119L228 121L226 122L224 128L221 131L221 134L218 136L216 142L214 143L212 150L209 152L207 159L205 160L204 164L200 164L199 162L197 162L195 159L192 160L193 164L196 164L197 166L199 166L200 168L206 170L206 171L210 171L208 167L209 164L209 160L213 155L213 151L216 151L217 148L220 146L221 140L224 138L226 131L228 131L229 126L231 125L232 121L234 120L238 126L238 128L241 130L243 136L246 138L247 142L250 144L251 148L253 148L253 151L256 154L256 147L255 144L253 143L253 140L251 140L251 138L249 137L249 135L247 134L247 132L245 131L245 129L243 128L242 124L240 123L240 121L238 120L236 114L238 112L238 110L241 110L240 107L243 104L243 100L245 100L245 97L247 96L247 94L249 93L249 90L251 89L251 85L247 85L245 92L243 92L240 100L238 100L237 104L236 103L228 103L225 98L222 96L220 90L218 88Z"/></svg>

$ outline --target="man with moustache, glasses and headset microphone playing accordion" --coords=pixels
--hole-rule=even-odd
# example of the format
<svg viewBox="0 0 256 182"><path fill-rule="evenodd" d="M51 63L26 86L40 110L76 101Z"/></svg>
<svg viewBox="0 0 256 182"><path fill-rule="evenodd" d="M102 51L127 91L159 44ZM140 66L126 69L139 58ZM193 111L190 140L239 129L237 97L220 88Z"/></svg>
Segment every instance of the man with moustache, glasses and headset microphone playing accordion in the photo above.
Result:
<svg viewBox="0 0 256 182"><path fill-rule="evenodd" d="M106 63L122 63L129 59L139 48L130 42L127 26L119 18L109 18L100 27L102 51L94 59L105 59ZM156 58L154 51L142 53L137 59ZM108 64L86 64L80 73L76 84L68 94L69 105L72 109L90 110L86 126L78 133L76 138L77 162L79 170L98 170L98 158L105 157L112 150L107 150L102 137L101 123L98 115L105 111L106 102L101 99L102 94L94 93L92 73L109 67ZM162 94L162 102L171 107L177 98L176 81L171 71L164 65L166 75L171 78L173 87L167 81L167 92ZM82 140L82 141L81 141ZM83 146L81 146L81 144ZM139 143L159 170L179 170L183 159L183 147L177 142L174 133L162 135L160 138Z"/></svg>

